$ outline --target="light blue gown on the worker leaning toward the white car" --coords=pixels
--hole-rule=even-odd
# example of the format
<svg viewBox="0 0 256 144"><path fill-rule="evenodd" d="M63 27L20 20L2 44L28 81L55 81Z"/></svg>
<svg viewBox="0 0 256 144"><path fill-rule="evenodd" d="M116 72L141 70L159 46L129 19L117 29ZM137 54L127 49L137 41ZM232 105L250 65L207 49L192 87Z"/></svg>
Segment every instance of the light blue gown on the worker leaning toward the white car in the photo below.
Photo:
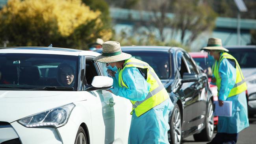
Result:
<svg viewBox="0 0 256 144"><path fill-rule="evenodd" d="M118 73L113 77L113 94L133 101L144 100L150 90L150 84L135 67L125 68L122 79L129 89L119 87ZM129 132L129 144L169 144L167 131L169 127L169 112L173 108L171 99L150 109L137 117L132 114Z"/></svg>

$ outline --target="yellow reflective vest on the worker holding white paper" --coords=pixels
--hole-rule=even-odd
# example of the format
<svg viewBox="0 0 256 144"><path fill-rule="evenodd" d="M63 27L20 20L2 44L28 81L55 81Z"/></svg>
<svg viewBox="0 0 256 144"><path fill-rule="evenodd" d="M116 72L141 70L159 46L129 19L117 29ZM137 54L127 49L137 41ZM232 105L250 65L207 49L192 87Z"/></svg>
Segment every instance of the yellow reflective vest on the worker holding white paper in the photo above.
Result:
<svg viewBox="0 0 256 144"><path fill-rule="evenodd" d="M219 65L221 61L226 59L233 59L236 62L236 83L234 87L230 90L230 93L228 94L228 98L231 96L235 96L237 94L240 94L241 92L245 91L247 89L247 85L245 83L245 78L243 77L243 73L241 71L241 68L237 62L237 60L230 54L224 52L219 59L219 63L217 65L217 61L215 61L215 64L213 65L213 74L216 78L216 85L218 87L218 95L219 95L219 89L221 86L221 77L219 76Z"/></svg>

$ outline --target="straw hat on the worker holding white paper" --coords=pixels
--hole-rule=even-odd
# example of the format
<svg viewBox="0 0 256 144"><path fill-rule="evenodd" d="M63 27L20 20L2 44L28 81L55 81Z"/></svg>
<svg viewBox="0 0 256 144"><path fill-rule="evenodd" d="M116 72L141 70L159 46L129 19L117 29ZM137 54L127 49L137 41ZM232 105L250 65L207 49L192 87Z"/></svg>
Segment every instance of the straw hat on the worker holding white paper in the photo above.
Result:
<svg viewBox="0 0 256 144"><path fill-rule="evenodd" d="M202 48L201 50L224 50L228 52L228 49L222 46L221 39L218 39L218 38L208 39L207 46Z"/></svg>

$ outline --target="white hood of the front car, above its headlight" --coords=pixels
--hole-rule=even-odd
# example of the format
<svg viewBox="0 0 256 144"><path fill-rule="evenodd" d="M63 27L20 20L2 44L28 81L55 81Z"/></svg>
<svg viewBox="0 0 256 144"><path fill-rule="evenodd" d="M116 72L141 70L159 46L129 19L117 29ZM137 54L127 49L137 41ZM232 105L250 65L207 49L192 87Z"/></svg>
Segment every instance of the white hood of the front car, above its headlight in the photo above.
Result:
<svg viewBox="0 0 256 144"><path fill-rule="evenodd" d="M0 90L0 121L11 123L35 113L86 100L86 97L84 92L74 91Z"/></svg>

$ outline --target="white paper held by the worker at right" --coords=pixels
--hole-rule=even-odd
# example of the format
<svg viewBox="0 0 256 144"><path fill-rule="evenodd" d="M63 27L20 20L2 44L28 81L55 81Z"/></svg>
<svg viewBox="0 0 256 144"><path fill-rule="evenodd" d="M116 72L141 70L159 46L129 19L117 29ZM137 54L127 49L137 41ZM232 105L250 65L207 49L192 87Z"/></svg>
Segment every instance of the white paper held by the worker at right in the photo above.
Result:
<svg viewBox="0 0 256 144"><path fill-rule="evenodd" d="M213 104L215 105L215 109L213 115L215 116L232 116L232 101L224 101L222 106L219 106L218 101L214 101Z"/></svg>

